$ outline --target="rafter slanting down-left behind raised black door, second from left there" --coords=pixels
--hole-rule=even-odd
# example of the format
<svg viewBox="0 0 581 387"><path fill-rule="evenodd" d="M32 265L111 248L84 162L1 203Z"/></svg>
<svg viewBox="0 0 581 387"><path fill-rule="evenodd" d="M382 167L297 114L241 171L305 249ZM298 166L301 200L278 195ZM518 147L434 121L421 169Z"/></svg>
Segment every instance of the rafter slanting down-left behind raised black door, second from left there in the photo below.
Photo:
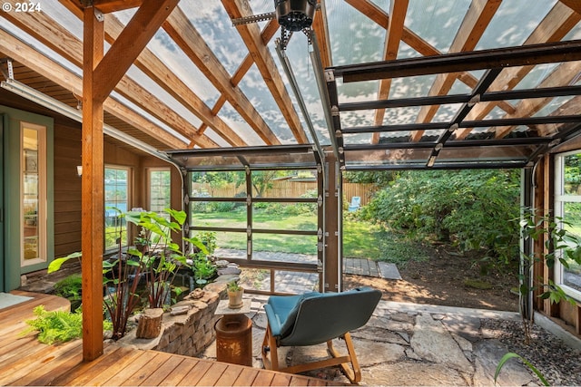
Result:
<svg viewBox="0 0 581 387"><path fill-rule="evenodd" d="M466 16L458 29L456 37L450 45L449 53L473 51L478 41L487 29L488 24L496 15L501 0L472 0ZM428 95L444 95L452 89L458 79L458 73L440 73L436 76ZM436 115L439 106L422 106L416 122L430 122ZM419 141L423 136L417 131L411 136L412 141Z"/></svg>

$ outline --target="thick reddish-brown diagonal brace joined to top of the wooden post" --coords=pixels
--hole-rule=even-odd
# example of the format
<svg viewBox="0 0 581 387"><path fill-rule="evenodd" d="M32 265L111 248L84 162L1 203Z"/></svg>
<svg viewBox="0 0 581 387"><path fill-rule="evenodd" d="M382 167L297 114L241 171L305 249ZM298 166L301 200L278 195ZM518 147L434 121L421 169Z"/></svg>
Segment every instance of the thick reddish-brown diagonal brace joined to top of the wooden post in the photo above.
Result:
<svg viewBox="0 0 581 387"><path fill-rule="evenodd" d="M109 96L179 2L143 0L143 5L94 69L95 77L101 80L94 86L94 98L104 101Z"/></svg>

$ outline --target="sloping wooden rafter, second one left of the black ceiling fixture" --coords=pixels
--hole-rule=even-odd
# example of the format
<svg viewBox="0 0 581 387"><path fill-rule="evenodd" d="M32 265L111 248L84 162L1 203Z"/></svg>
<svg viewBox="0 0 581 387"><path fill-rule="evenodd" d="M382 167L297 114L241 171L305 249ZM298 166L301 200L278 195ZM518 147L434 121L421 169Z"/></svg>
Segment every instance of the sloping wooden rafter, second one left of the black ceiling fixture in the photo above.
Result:
<svg viewBox="0 0 581 387"><path fill-rule="evenodd" d="M248 98L231 85L230 75L181 9L174 10L163 29L267 145L281 144Z"/></svg>

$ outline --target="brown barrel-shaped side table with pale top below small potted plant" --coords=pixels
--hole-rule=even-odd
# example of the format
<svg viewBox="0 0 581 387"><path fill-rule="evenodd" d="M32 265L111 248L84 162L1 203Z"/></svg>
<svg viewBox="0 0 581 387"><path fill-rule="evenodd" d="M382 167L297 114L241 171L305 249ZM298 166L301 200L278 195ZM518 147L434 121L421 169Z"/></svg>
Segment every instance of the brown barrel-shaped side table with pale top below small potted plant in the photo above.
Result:
<svg viewBox="0 0 581 387"><path fill-rule="evenodd" d="M239 309L230 309L222 300L214 314L222 314L216 322L216 359L218 362L252 365L251 300L243 300Z"/></svg>

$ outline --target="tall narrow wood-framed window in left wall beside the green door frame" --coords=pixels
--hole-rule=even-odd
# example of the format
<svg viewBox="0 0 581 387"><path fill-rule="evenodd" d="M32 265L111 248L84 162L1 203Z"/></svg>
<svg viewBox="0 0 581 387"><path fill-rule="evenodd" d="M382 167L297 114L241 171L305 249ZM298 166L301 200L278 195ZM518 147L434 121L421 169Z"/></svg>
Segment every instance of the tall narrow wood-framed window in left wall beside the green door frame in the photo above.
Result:
<svg viewBox="0 0 581 387"><path fill-rule="evenodd" d="M46 261L46 128L20 124L21 265Z"/></svg>

